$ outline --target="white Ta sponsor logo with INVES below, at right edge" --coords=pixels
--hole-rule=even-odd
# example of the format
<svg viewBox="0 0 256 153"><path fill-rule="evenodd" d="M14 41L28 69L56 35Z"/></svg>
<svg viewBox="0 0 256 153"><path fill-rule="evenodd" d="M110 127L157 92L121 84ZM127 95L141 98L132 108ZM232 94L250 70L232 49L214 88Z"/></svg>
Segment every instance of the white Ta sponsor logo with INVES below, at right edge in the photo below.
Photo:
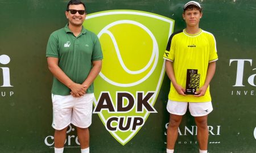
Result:
<svg viewBox="0 0 256 153"><path fill-rule="evenodd" d="M256 68L253 68L253 59L230 59L229 66L236 66L236 79L233 84L236 90L232 90L230 95L254 96L255 91L249 90L251 87L256 87L254 81Z"/></svg>

